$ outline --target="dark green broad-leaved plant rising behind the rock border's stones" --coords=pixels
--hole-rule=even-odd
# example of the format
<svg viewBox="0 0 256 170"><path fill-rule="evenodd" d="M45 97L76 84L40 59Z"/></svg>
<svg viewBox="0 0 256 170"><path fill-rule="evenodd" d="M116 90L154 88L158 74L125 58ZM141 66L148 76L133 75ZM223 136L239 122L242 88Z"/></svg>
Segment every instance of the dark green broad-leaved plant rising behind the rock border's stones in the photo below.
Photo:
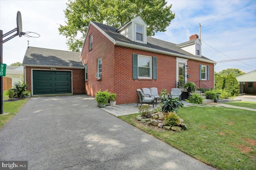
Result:
<svg viewBox="0 0 256 170"><path fill-rule="evenodd" d="M177 112L178 109L183 107L183 103L179 99L174 99L174 98L163 98L161 100L162 104L162 112L167 113L167 112Z"/></svg>

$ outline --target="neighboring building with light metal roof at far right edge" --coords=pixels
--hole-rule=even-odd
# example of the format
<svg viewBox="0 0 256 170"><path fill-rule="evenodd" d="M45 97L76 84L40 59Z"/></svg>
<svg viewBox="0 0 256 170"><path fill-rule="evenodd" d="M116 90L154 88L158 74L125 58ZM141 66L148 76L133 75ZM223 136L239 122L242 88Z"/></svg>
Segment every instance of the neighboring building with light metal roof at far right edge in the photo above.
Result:
<svg viewBox="0 0 256 170"><path fill-rule="evenodd" d="M256 70L237 76L239 93L256 94Z"/></svg>

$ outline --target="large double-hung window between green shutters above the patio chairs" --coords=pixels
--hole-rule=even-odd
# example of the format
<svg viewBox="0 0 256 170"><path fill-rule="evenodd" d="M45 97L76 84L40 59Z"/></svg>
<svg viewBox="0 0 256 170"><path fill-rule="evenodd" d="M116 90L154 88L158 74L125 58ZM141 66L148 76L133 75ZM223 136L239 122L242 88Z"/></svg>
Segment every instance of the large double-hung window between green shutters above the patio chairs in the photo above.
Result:
<svg viewBox="0 0 256 170"><path fill-rule="evenodd" d="M151 57L138 56L138 77L151 78Z"/></svg>

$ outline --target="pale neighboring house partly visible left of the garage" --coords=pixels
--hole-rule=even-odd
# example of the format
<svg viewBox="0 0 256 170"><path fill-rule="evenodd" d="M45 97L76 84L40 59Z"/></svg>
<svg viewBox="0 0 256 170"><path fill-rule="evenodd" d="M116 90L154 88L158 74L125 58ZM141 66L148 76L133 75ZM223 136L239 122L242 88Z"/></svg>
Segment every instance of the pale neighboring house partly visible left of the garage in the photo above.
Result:
<svg viewBox="0 0 256 170"><path fill-rule="evenodd" d="M12 78L12 86L15 82L20 82L24 75L23 66L6 66L6 77Z"/></svg>

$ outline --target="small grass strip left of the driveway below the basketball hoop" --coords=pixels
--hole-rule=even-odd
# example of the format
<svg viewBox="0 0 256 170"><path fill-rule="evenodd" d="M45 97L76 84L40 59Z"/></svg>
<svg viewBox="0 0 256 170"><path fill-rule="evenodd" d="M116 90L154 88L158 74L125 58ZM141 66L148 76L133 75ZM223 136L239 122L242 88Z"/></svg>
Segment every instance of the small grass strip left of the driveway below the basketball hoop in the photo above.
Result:
<svg viewBox="0 0 256 170"><path fill-rule="evenodd" d="M6 115L0 115L0 130L8 123L14 115L22 108L22 106L28 101L28 99L21 99L15 102L3 102L4 113Z"/></svg>

